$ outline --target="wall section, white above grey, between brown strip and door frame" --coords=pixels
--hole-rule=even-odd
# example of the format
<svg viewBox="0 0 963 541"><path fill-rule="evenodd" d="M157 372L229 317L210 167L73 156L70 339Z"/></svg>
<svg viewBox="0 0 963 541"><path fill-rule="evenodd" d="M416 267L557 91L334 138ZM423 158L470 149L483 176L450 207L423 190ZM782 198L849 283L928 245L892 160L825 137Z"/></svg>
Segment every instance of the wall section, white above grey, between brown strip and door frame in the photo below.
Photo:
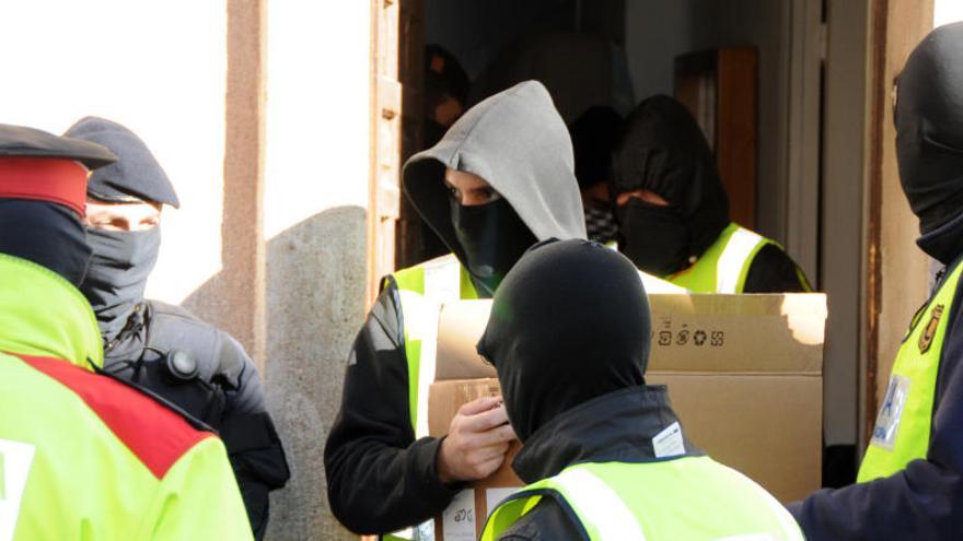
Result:
<svg viewBox="0 0 963 541"><path fill-rule="evenodd" d="M274 540L357 539L327 506L322 451L364 317L369 2L268 2L268 405L289 486Z"/></svg>

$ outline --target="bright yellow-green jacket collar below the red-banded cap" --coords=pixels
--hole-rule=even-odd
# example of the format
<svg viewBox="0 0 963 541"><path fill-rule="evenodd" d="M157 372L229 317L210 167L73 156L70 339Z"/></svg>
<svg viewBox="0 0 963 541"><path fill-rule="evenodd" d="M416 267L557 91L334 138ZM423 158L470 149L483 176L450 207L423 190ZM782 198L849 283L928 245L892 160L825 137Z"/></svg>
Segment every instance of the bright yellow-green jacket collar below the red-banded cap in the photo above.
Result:
<svg viewBox="0 0 963 541"><path fill-rule="evenodd" d="M104 363L101 331L80 291L60 274L0 254L0 352Z"/></svg>

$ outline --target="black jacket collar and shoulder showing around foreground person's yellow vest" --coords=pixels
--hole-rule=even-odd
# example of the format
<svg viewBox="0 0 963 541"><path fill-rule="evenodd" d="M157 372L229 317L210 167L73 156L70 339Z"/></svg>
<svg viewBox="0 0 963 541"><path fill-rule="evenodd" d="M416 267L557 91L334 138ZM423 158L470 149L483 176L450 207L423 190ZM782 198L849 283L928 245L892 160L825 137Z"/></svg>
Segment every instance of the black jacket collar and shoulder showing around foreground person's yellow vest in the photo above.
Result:
<svg viewBox="0 0 963 541"><path fill-rule="evenodd" d="M604 422L599 420L604 419ZM677 422L664 386L633 387L572 408L538 428L512 462L526 482L580 462L652 462L652 437ZM685 440L686 455L701 455ZM680 456L677 458L682 458ZM500 541L588 540L564 502L543 497Z"/></svg>

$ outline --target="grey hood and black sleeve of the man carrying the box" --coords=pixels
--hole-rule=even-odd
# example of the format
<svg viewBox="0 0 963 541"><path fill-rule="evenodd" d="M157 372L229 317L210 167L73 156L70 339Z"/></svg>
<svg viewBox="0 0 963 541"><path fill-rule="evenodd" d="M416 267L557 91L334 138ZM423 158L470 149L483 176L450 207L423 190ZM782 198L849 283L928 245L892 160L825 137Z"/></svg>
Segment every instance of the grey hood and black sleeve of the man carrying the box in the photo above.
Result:
<svg viewBox="0 0 963 541"><path fill-rule="evenodd" d="M446 167L485 178L538 240L585 238L571 141L541 83L520 83L479 103L405 165L406 195L465 264L443 183ZM424 522L462 489L439 481L441 439L415 439L401 297L391 278L384 283L355 340L324 450L330 508L357 533Z"/></svg>

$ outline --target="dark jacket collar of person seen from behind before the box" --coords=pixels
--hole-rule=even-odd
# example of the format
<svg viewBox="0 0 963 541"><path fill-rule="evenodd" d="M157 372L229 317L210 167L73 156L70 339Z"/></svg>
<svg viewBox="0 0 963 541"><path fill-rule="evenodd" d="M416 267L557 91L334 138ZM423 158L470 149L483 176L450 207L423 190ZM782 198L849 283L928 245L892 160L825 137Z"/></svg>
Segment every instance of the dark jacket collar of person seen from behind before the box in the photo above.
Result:
<svg viewBox="0 0 963 541"><path fill-rule="evenodd" d="M652 438L678 422L664 385L629 387L579 404L538 428L512 462L526 483L579 462L652 462ZM683 434L685 455L698 456Z"/></svg>

